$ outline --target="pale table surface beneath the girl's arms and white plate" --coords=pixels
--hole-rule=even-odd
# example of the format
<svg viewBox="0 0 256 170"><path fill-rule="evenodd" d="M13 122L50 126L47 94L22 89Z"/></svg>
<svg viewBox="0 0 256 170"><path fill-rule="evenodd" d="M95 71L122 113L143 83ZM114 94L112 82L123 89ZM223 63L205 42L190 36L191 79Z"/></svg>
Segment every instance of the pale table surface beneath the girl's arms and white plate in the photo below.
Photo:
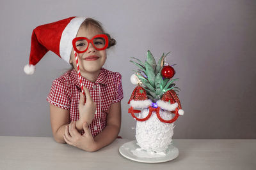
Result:
<svg viewBox="0 0 256 170"><path fill-rule="evenodd" d="M116 139L98 152L84 152L53 138L0 136L0 169L256 169L256 139L173 139L179 157L146 164L126 159Z"/></svg>

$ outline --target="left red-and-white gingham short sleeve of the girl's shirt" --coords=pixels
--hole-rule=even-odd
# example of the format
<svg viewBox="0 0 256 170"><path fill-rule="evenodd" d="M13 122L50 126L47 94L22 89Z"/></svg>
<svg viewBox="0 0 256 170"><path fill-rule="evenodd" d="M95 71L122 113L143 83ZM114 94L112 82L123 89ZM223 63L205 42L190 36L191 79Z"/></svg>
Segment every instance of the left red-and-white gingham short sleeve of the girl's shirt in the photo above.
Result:
<svg viewBox="0 0 256 170"><path fill-rule="evenodd" d="M54 106L70 110L70 88L65 80L54 80L47 101Z"/></svg>

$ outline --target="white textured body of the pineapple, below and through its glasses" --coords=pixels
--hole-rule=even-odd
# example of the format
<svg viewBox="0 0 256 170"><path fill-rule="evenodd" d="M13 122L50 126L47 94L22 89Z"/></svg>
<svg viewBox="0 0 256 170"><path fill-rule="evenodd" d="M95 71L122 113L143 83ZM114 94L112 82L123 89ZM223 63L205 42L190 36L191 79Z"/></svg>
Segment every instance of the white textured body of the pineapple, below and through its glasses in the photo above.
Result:
<svg viewBox="0 0 256 170"><path fill-rule="evenodd" d="M149 109L143 109L139 118L147 117ZM172 114L170 111L160 110L162 118L170 120ZM173 128L175 125L161 122L153 111L151 117L144 121L136 123L136 141L141 149L147 152L165 152L172 143Z"/></svg>

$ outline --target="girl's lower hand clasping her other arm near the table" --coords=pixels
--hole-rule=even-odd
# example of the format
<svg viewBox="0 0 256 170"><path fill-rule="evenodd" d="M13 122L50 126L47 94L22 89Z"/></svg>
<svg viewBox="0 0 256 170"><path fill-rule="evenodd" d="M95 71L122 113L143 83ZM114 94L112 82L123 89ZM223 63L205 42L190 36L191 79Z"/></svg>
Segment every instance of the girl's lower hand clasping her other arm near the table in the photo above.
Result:
<svg viewBox="0 0 256 170"><path fill-rule="evenodd" d="M66 143L77 148L81 148L87 152L95 152L97 150L97 145L93 139L92 133L88 128L88 124L83 124L84 134L81 135L76 129L76 123L71 122L65 127L64 139Z"/></svg>

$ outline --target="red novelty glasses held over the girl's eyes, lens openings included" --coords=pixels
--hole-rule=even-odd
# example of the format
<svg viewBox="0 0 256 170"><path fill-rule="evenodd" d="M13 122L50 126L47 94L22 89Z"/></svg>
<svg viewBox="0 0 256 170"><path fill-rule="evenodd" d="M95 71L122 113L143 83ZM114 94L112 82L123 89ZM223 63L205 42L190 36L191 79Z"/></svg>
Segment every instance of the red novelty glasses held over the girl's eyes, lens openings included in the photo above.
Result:
<svg viewBox="0 0 256 170"><path fill-rule="evenodd" d="M77 53L86 52L90 43L92 43L96 50L105 50L108 47L108 36L105 34L99 34L93 36L92 39L88 39L86 37L77 37L72 41L73 48Z"/></svg>

